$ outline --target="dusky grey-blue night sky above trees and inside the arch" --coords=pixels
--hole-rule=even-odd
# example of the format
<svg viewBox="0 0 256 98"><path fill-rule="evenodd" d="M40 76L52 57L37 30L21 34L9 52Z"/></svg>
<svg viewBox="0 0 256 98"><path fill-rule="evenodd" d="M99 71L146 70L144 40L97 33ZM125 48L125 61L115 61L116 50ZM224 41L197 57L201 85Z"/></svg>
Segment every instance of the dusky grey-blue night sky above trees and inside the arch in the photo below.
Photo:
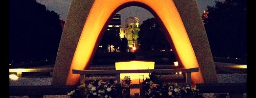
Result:
<svg viewBox="0 0 256 98"><path fill-rule="evenodd" d="M72 0L36 0L38 3L41 3L42 5L45 5L48 10L53 10L55 13L58 13L61 20L66 20L67 13L69 10L69 6L71 4ZM197 0L198 8L200 10L200 13L202 14L204 10L207 10L207 5L214 6L215 0ZM218 0L223 1L223 0ZM135 16L140 19L140 22L142 23L144 20L147 20L148 18L153 18L154 16L146 9L137 7L137 6L131 6L124 8L119 11L121 14L121 25L124 25L124 21L126 18L130 16Z"/></svg>

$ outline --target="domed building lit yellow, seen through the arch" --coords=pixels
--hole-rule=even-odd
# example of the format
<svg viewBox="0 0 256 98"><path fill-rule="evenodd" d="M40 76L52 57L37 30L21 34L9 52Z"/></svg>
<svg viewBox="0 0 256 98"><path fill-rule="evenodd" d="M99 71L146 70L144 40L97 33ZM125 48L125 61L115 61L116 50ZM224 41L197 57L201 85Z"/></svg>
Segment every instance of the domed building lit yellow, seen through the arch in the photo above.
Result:
<svg viewBox="0 0 256 98"><path fill-rule="evenodd" d="M126 18L125 26L120 28L120 38L127 38L128 50L126 52L134 52L138 48L138 31L140 30L140 20L131 16Z"/></svg>

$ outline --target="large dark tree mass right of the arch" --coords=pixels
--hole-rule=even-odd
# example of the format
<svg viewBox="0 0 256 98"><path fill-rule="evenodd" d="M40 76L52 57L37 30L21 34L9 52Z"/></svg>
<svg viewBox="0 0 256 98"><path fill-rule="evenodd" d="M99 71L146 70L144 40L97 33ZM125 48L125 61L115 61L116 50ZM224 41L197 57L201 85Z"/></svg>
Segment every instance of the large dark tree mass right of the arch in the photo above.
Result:
<svg viewBox="0 0 256 98"><path fill-rule="evenodd" d="M215 3L202 15L212 55L247 58L246 0Z"/></svg>

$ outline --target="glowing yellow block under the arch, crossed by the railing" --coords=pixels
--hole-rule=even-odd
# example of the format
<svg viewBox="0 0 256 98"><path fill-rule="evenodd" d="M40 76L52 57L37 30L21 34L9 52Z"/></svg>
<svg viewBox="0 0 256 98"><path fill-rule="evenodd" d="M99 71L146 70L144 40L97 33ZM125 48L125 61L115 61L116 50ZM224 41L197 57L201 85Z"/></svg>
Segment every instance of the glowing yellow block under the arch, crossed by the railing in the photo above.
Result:
<svg viewBox="0 0 256 98"><path fill-rule="evenodd" d="M134 70L134 69L154 69L155 62L151 61L127 61L127 62L117 62L115 63L116 70ZM149 73L121 73L120 80L125 76L130 76L132 84L139 84L139 81L142 82L142 79L139 76L144 75L144 78L149 78Z"/></svg>

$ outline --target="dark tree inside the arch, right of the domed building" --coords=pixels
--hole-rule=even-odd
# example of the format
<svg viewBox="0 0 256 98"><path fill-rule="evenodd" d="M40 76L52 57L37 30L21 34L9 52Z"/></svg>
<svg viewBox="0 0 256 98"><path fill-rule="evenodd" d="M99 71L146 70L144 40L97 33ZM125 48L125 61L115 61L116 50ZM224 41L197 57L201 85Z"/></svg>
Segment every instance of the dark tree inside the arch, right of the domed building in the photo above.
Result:
<svg viewBox="0 0 256 98"><path fill-rule="evenodd" d="M156 18L143 21L137 40L141 44L141 51L170 50L170 44Z"/></svg>

